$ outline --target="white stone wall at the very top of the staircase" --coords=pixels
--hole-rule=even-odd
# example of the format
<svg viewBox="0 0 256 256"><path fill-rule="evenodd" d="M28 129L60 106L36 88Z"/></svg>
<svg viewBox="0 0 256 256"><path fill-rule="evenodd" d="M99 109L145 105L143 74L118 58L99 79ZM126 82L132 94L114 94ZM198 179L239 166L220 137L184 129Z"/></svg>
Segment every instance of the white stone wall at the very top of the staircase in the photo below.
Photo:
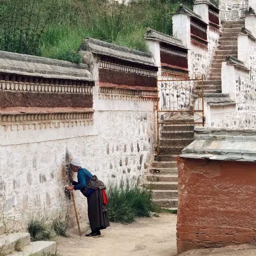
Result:
<svg viewBox="0 0 256 256"><path fill-rule="evenodd" d="M220 0L221 20L244 18L248 10L248 0Z"/></svg>

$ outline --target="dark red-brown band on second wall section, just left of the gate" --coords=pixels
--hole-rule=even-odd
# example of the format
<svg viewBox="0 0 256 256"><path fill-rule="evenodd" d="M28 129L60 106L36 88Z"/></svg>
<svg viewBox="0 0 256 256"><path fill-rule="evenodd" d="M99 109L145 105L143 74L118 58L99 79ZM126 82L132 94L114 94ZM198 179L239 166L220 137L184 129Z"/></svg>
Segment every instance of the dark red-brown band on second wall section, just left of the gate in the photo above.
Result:
<svg viewBox="0 0 256 256"><path fill-rule="evenodd" d="M128 86L156 87L156 77L100 68L99 81Z"/></svg>

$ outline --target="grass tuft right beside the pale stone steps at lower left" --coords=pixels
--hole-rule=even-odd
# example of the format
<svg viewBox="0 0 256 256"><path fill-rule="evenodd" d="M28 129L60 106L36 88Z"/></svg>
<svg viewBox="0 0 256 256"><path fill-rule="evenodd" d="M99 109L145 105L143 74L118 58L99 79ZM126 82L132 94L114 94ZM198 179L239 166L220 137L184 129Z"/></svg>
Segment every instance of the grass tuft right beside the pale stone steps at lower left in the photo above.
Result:
<svg viewBox="0 0 256 256"><path fill-rule="evenodd" d="M43 212L30 212L28 218L28 232L30 233L32 242L40 240L50 240L52 237L52 230L47 225L48 217Z"/></svg>

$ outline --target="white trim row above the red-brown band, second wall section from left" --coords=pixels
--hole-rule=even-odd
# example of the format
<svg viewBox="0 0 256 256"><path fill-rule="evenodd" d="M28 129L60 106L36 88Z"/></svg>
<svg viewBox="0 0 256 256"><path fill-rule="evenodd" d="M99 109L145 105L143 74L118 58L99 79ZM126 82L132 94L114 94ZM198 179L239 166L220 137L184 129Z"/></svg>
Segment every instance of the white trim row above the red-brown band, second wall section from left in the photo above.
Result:
<svg viewBox="0 0 256 256"><path fill-rule="evenodd" d="M144 69L140 69L140 68L133 68L133 67L129 67L129 66L123 66L120 64L113 64L111 62L106 62L106 61L102 61L102 60L99 61L99 68L107 68L107 69L112 69L112 70L117 70L117 71L139 74L142 76L156 77L156 72L154 72L154 71L144 70Z"/></svg>

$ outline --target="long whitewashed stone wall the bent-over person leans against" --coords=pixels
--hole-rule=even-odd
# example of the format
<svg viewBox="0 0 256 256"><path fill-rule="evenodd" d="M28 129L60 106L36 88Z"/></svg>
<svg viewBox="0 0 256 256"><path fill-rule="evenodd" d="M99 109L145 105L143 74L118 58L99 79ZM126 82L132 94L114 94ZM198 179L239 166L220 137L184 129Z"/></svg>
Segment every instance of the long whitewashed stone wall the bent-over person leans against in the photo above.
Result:
<svg viewBox="0 0 256 256"><path fill-rule="evenodd" d="M121 177L140 179L154 157L156 117L153 101L98 97L94 88L94 124L4 130L0 126L0 203L4 216L24 224L30 210L64 206L66 150L106 184ZM86 217L86 198L75 192L78 215Z"/></svg>

